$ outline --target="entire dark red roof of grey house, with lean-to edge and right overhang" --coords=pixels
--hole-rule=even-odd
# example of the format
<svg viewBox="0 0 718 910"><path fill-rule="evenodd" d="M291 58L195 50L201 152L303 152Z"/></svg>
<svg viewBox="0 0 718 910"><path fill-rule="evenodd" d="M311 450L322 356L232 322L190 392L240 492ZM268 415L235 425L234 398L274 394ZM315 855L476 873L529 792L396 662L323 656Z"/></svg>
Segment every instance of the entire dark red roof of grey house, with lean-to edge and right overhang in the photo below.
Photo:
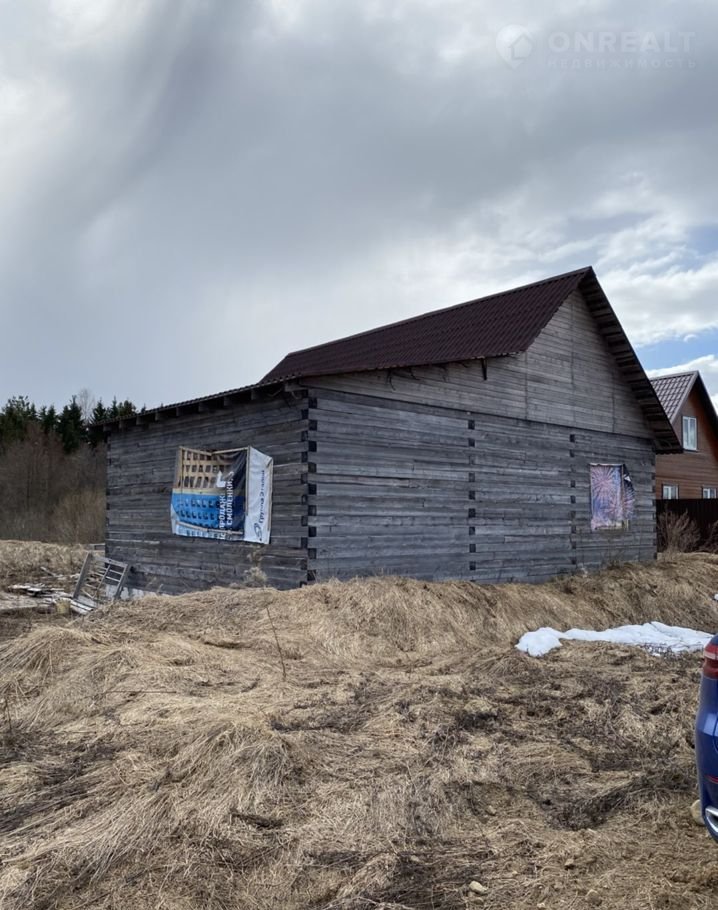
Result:
<svg viewBox="0 0 718 910"><path fill-rule="evenodd" d="M293 379L453 361L481 360L519 354L536 340L569 294L580 290L619 371L633 392L659 452L682 452L675 430L646 376L618 317L591 267L566 272L457 306L414 316L401 322L338 341L294 351L258 383L177 404L161 405L137 418L105 421L130 426L221 407L262 395L281 394Z"/></svg>

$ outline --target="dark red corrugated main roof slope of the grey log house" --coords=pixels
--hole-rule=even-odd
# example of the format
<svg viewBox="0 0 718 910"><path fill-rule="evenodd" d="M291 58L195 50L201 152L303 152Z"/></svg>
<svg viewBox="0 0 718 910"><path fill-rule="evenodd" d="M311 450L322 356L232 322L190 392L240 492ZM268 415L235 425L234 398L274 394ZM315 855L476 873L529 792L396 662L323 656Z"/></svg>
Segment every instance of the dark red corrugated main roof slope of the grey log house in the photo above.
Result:
<svg viewBox="0 0 718 910"><path fill-rule="evenodd" d="M529 348L589 274L593 269L578 269L294 351L262 382L517 354Z"/></svg>

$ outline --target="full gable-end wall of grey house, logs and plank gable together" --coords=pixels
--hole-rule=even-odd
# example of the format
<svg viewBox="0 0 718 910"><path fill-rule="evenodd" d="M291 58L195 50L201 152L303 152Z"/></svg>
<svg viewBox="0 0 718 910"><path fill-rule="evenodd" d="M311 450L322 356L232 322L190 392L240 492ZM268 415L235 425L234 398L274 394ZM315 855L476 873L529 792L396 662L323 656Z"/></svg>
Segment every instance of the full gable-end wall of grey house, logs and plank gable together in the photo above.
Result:
<svg viewBox="0 0 718 910"><path fill-rule="evenodd" d="M473 362L308 385L311 578L540 581L655 556L653 442L578 295L486 378ZM591 532L592 462L628 465L627 531Z"/></svg>

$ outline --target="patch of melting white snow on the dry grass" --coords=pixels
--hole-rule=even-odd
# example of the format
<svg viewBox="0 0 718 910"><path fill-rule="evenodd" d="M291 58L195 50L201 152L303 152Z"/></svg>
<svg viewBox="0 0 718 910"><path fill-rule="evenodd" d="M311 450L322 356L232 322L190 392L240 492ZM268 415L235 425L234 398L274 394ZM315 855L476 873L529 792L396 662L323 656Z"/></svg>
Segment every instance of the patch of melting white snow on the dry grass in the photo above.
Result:
<svg viewBox="0 0 718 910"><path fill-rule="evenodd" d="M516 647L531 657L543 657L554 648L560 648L561 641L606 641L616 645L634 645L654 653L670 651L680 654L683 651L701 651L712 637L709 632L666 626L662 622L647 622L642 626L620 626L617 629L604 629L603 632L591 629L569 629L568 632L537 629L522 635Z"/></svg>

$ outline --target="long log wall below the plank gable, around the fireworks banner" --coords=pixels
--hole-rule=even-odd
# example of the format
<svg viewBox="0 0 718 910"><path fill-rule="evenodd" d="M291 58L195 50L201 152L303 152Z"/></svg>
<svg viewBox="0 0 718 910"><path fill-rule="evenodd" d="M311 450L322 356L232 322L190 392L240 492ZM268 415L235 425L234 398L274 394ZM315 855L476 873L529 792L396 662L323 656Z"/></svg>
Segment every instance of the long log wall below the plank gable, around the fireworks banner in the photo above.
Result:
<svg viewBox="0 0 718 910"><path fill-rule="evenodd" d="M655 555L646 440L313 389L310 577L540 581ZM591 532L592 462L626 462L627 531Z"/></svg>

